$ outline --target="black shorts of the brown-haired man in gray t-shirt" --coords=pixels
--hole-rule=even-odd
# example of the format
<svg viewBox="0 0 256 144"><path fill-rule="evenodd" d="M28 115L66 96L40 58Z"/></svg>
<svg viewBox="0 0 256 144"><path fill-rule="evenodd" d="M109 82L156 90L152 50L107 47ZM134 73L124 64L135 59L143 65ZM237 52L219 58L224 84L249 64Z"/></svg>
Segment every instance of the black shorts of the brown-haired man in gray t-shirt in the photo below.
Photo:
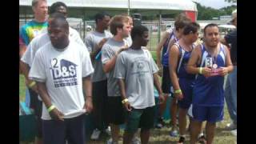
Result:
<svg viewBox="0 0 256 144"><path fill-rule="evenodd" d="M107 98L107 120L115 125L122 125L125 122L125 109L122 106L122 98L108 97Z"/></svg>

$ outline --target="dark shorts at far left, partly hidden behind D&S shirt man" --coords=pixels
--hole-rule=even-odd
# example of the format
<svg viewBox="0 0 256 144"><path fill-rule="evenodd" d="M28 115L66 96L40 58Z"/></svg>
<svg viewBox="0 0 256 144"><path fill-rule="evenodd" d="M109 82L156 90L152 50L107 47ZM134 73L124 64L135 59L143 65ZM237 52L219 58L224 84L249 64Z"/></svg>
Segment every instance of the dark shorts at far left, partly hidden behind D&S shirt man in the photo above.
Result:
<svg viewBox="0 0 256 144"><path fill-rule="evenodd" d="M38 94L34 90L30 91L30 107L34 109L34 116L36 122L36 136L42 138L42 101L38 99Z"/></svg>

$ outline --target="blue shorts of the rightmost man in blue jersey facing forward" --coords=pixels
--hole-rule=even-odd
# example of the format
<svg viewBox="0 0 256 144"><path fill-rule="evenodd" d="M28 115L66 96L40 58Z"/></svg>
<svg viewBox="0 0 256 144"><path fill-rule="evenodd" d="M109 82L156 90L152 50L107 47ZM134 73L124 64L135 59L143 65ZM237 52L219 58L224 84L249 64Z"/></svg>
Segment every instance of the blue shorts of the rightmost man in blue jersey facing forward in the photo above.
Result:
<svg viewBox="0 0 256 144"><path fill-rule="evenodd" d="M199 122L220 122L224 116L224 106L195 106L192 107L193 119Z"/></svg>

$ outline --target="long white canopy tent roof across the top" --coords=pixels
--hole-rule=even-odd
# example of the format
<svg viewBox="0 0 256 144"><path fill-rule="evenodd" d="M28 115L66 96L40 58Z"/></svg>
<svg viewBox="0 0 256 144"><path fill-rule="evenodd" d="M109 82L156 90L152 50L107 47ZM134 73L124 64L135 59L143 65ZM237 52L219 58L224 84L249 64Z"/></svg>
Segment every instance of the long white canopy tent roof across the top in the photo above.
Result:
<svg viewBox="0 0 256 144"><path fill-rule="evenodd" d="M32 0L19 0L20 6L31 6ZM50 6L58 0L48 0ZM107 8L130 10L188 10L197 11L196 4L191 0L62 0L66 6L79 8ZM130 5L129 5L130 4Z"/></svg>

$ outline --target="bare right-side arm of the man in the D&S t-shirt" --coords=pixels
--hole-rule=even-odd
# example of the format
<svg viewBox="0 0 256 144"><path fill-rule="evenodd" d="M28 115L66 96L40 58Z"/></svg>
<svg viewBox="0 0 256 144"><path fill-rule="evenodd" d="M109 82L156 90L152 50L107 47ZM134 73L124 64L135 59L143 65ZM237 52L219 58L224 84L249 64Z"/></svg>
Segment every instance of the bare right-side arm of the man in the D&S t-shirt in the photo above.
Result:
<svg viewBox="0 0 256 144"><path fill-rule="evenodd" d="M90 113L91 110L93 110L93 102L92 102L92 84L91 84L91 79L90 75L82 78L82 87L83 90L85 91L85 106L84 109L86 109L86 112Z"/></svg>

